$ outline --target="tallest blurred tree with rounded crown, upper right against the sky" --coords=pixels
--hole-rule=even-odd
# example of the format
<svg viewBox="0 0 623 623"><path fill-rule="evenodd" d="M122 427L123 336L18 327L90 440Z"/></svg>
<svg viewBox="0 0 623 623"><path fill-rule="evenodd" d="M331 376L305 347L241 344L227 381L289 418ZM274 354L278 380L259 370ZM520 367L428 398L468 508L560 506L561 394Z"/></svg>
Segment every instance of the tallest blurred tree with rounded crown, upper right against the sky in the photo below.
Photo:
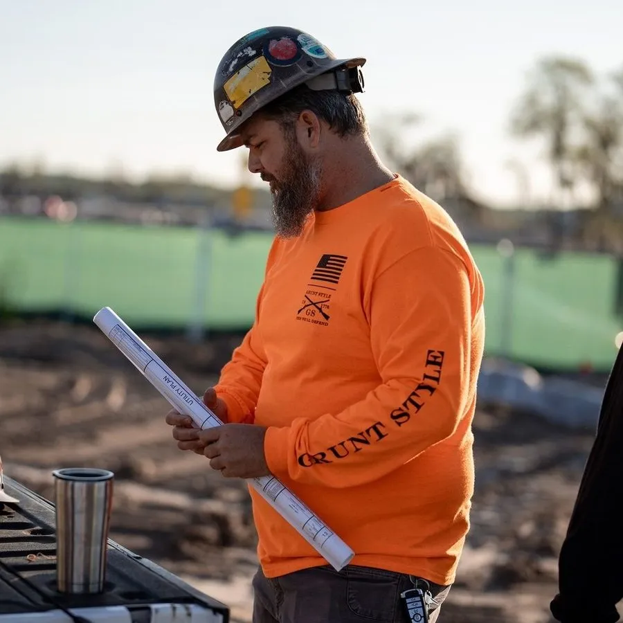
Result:
<svg viewBox="0 0 623 623"><path fill-rule="evenodd" d="M512 112L512 134L545 138L562 201L572 197L577 184L575 154L592 84L593 73L584 62L545 57L536 64Z"/></svg>

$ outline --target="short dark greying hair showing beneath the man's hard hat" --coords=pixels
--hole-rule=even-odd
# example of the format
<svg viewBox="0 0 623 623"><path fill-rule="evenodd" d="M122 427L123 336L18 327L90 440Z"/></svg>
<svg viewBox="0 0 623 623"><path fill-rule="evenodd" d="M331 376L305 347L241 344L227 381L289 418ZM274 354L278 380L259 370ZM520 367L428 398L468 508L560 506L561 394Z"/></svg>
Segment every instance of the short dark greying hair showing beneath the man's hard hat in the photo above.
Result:
<svg viewBox="0 0 623 623"><path fill-rule="evenodd" d="M291 125L304 111L310 110L325 121L338 136L365 135L368 124L361 103L352 93L314 91L300 84L262 107L262 116Z"/></svg>

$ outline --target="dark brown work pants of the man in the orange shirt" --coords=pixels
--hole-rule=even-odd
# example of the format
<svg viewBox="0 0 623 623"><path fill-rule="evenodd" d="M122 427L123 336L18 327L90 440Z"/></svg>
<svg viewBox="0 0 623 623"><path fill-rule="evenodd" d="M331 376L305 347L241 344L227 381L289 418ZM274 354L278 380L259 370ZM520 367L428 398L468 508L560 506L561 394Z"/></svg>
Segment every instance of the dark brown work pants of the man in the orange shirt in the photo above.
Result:
<svg viewBox="0 0 623 623"><path fill-rule="evenodd" d="M329 566L303 569L275 578L261 568L253 578L253 623L410 623L400 594L425 590L422 578L370 567ZM450 586L428 581L434 623Z"/></svg>

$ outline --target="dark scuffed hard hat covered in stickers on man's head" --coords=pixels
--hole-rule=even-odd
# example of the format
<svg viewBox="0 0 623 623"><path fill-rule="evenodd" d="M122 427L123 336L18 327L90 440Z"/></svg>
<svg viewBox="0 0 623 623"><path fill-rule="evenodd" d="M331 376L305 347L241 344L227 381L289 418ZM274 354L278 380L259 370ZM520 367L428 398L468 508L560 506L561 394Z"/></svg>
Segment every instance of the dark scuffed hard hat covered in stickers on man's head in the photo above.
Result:
<svg viewBox="0 0 623 623"><path fill-rule="evenodd" d="M219 63L214 103L227 133L217 150L242 145L240 126L263 106L307 84L317 91L361 93L365 58L338 59L303 30L268 26L238 39Z"/></svg>

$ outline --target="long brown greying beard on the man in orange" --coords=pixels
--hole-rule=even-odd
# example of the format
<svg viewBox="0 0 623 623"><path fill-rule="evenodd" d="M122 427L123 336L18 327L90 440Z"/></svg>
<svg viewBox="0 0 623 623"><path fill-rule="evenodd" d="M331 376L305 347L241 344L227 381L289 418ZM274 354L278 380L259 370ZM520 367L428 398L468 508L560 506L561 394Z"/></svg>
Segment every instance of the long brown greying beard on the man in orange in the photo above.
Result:
<svg viewBox="0 0 623 623"><path fill-rule="evenodd" d="M279 179L262 174L271 182L273 226L278 236L291 238L303 233L307 217L320 201L322 165L317 158L303 152L296 137L287 137L289 146L285 166Z"/></svg>

